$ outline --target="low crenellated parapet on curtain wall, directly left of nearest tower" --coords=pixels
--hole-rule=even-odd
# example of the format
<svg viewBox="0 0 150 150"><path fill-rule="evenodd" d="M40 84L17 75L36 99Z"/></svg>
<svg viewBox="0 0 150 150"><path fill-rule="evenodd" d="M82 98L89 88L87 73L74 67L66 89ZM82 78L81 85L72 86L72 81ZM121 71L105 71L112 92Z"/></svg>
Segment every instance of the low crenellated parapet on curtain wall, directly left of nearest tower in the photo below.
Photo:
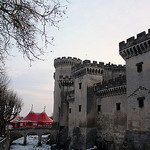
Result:
<svg viewBox="0 0 150 150"><path fill-rule="evenodd" d="M94 85L94 92L98 97L126 94L126 76L97 83Z"/></svg>

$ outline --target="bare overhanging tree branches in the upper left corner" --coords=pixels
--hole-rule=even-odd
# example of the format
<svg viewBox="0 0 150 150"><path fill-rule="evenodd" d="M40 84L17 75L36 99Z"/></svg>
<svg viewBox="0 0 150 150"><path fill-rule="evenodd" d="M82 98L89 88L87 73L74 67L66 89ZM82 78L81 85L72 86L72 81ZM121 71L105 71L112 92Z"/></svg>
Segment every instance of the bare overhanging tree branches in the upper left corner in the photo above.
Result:
<svg viewBox="0 0 150 150"><path fill-rule="evenodd" d="M17 46L30 61L40 59L45 47L40 46L39 38L52 44L54 37L47 35L52 26L65 14L66 1L61 0L1 0L0 1L0 61L13 46ZM0 64L0 65L1 65Z"/></svg>

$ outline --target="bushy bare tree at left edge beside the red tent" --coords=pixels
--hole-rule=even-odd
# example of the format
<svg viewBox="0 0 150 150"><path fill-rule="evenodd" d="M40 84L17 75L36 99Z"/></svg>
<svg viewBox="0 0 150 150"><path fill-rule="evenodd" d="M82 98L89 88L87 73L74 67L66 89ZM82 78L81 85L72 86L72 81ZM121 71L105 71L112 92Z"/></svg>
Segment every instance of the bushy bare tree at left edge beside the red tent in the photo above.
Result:
<svg viewBox="0 0 150 150"><path fill-rule="evenodd" d="M23 105L17 94L8 90L8 78L0 75L0 136L5 134L5 127L20 112Z"/></svg>

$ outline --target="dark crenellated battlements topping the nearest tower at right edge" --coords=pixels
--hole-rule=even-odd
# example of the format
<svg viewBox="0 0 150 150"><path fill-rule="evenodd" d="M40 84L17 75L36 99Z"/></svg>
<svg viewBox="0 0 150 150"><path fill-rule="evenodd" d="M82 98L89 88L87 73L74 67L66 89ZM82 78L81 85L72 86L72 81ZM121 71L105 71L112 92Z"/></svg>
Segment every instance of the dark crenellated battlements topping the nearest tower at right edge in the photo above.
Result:
<svg viewBox="0 0 150 150"><path fill-rule="evenodd" d="M133 56L137 56L150 51L150 29L148 33L141 32L137 34L137 38L134 36L119 43L119 53L124 59L128 59Z"/></svg>

